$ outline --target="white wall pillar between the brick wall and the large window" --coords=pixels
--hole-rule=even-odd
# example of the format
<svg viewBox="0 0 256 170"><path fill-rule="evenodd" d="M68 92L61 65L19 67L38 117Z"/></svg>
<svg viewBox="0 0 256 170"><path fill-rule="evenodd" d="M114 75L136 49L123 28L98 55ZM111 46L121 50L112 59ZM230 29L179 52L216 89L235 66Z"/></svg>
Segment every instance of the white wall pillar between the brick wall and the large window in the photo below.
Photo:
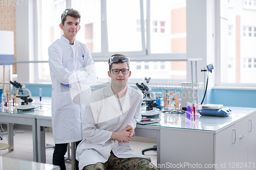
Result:
<svg viewBox="0 0 256 170"><path fill-rule="evenodd" d="M34 1L27 0L16 6L16 53L17 61L34 60ZM34 71L29 71L34 64L17 64L18 82L33 82ZM34 69L31 69L34 70Z"/></svg>

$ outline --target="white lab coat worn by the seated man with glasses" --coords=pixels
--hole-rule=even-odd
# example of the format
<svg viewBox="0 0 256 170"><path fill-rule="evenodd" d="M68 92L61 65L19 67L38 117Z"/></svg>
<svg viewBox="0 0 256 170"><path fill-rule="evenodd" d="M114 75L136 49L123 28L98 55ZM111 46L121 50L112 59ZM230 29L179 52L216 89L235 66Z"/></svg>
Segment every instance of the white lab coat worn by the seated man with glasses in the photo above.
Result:
<svg viewBox="0 0 256 170"><path fill-rule="evenodd" d="M119 132L127 125L136 128L143 94L127 86L124 98L121 111L120 103L113 95L110 85L91 94L90 105L86 106L82 119L83 140L76 150L79 169L108 161L111 150L118 158L139 157L151 160L150 157L131 150L129 143L110 139L112 132Z"/></svg>

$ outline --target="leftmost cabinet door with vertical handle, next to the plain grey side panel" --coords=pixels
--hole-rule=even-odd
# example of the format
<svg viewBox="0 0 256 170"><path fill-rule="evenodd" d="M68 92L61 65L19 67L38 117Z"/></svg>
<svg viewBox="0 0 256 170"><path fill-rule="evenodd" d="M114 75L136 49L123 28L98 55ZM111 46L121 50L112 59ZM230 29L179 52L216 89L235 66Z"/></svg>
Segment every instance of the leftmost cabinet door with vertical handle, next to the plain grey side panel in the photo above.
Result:
<svg viewBox="0 0 256 170"><path fill-rule="evenodd" d="M215 163L218 165L216 170L223 169L223 165L225 169L232 169L228 167L228 164L234 160L235 131L233 129L234 125L216 134Z"/></svg>

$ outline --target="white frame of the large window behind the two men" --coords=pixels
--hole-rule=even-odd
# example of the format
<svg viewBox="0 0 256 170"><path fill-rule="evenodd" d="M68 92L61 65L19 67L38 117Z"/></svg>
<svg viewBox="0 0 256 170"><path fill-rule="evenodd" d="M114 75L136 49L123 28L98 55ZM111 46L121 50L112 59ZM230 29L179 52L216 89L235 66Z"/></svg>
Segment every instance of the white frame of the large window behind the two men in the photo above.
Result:
<svg viewBox="0 0 256 170"><path fill-rule="evenodd" d="M66 0L66 8L72 8L72 0ZM36 14L34 17L34 23L37 23L37 1L34 3L34 13ZM144 2L146 2L146 9L144 9ZM106 0L100 0L100 10L101 10L101 52L91 52L92 58L95 62L107 61L109 57L115 53L121 53L126 56L129 56L131 61L184 61L187 59L186 53L161 53L157 54L151 53L151 18L150 18L150 3L151 0L140 0L140 28L141 28L141 38L142 38L142 51L137 52L109 52L108 50L108 29L107 29L107 19L106 19ZM146 19L144 19L144 10L146 10ZM144 25L144 21L146 20L146 27ZM165 21L164 21L165 22ZM158 21L158 24L161 22ZM35 56L34 59L38 60L38 44L37 44L37 36L38 36L38 28L37 24L34 28L34 41L35 45ZM164 26L165 27L165 26ZM166 31L166 30L165 30ZM149 34L146 34L146 33ZM165 33L162 33L165 34ZM146 37L145 37L146 36ZM146 39L146 40L145 40ZM147 45L146 45L147 44ZM39 79L39 72L37 70L38 66L35 66L31 69L35 71L34 80L35 82L51 82L49 80ZM189 71L187 71L187 75ZM131 79L131 81L136 81L135 79ZM183 82L185 80L180 80ZM159 80L159 83L164 83L166 80Z"/></svg>

